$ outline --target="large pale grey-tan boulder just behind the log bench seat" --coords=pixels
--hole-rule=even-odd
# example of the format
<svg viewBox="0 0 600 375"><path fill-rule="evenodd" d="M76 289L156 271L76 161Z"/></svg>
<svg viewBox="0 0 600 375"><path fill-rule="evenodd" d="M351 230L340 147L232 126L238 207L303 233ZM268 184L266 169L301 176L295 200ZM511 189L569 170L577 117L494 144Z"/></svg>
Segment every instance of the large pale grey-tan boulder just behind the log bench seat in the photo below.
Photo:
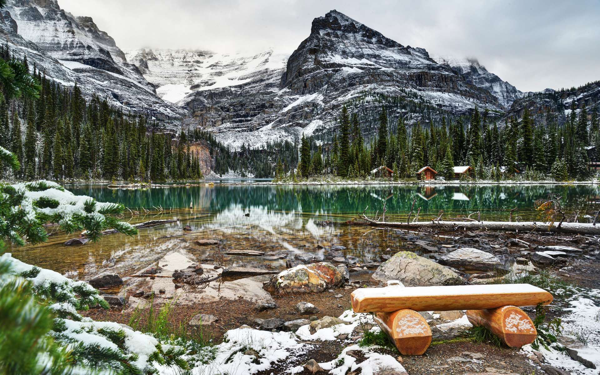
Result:
<svg viewBox="0 0 600 375"><path fill-rule="evenodd" d="M405 286L461 285L463 278L448 268L410 251L400 251L383 262L371 280L399 280Z"/></svg>

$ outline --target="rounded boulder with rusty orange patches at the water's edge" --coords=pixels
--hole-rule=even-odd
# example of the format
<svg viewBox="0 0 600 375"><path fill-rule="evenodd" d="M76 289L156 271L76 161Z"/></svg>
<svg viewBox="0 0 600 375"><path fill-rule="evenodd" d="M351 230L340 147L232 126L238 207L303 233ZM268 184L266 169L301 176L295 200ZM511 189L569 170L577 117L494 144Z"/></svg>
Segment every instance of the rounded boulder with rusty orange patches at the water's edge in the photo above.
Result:
<svg viewBox="0 0 600 375"><path fill-rule="evenodd" d="M341 287L344 276L327 262L299 265L271 277L263 286L275 295L320 293L332 287Z"/></svg>

